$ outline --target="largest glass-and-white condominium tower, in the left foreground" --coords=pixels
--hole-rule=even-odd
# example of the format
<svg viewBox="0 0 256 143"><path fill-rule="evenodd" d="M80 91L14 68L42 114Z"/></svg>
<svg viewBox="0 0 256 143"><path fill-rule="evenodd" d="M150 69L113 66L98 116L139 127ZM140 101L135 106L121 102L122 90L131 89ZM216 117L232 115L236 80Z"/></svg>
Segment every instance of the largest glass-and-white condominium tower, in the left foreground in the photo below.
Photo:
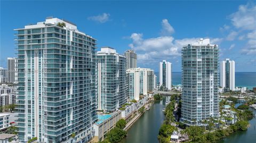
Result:
<svg viewBox="0 0 256 143"><path fill-rule="evenodd" d="M74 23L52 17L15 30L19 139L91 140L97 120L96 40Z"/></svg>

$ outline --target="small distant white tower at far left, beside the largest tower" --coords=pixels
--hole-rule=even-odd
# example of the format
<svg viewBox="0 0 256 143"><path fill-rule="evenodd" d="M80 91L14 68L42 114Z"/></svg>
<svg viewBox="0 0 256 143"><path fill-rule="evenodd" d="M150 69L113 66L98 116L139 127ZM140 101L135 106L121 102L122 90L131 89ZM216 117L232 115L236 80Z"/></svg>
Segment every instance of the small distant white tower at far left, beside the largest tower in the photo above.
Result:
<svg viewBox="0 0 256 143"><path fill-rule="evenodd" d="M7 81L11 83L15 82L15 63L16 63L15 61L16 61L15 57L7 58L7 68L8 68Z"/></svg>

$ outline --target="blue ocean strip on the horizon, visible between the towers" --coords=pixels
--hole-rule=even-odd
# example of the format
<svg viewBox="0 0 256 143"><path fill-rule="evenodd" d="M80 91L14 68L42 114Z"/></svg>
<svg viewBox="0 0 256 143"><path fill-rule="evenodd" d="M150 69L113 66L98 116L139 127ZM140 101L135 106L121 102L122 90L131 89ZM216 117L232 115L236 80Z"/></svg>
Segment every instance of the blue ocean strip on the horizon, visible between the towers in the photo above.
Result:
<svg viewBox="0 0 256 143"><path fill-rule="evenodd" d="M155 72L158 80L159 73ZM235 73L235 86L247 87L252 90L256 87L256 72L236 72ZM181 72L172 72L172 85L181 84Z"/></svg>

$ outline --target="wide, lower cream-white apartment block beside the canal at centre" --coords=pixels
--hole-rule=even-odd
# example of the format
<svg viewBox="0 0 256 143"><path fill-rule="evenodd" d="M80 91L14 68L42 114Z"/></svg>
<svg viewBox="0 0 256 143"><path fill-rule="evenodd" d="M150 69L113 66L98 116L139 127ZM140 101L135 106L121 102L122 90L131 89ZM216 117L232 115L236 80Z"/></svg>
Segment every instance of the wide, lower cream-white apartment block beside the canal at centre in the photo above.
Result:
<svg viewBox="0 0 256 143"><path fill-rule="evenodd" d="M140 99L140 94L147 95L154 91L154 70L145 68L131 68L126 70L126 94L129 99Z"/></svg>

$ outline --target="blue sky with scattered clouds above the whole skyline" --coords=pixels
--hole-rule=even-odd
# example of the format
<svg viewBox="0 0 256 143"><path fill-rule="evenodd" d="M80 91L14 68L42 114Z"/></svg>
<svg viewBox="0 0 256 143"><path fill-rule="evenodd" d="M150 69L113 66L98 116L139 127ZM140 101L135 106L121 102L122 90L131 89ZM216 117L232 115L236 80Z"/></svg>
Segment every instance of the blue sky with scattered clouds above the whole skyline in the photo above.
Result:
<svg viewBox="0 0 256 143"><path fill-rule="evenodd" d="M158 62L181 71L182 45L210 38L220 60L236 71L256 72L256 5L253 1L1 1L0 66L17 53L13 29L47 16L77 24L79 31L123 54L133 48L138 66L158 71ZM99 48L98 48L99 49Z"/></svg>

